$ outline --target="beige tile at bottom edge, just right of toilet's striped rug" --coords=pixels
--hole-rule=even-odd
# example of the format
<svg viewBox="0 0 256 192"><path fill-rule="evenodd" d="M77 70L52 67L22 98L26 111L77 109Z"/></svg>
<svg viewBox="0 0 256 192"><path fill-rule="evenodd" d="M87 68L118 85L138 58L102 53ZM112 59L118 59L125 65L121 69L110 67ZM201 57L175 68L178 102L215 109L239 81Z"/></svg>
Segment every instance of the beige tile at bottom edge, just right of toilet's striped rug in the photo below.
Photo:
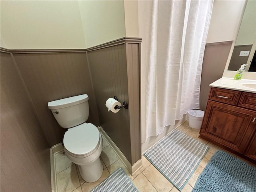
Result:
<svg viewBox="0 0 256 192"><path fill-rule="evenodd" d="M157 190L142 173L140 173L134 180L132 180L132 182L139 192L157 192Z"/></svg>

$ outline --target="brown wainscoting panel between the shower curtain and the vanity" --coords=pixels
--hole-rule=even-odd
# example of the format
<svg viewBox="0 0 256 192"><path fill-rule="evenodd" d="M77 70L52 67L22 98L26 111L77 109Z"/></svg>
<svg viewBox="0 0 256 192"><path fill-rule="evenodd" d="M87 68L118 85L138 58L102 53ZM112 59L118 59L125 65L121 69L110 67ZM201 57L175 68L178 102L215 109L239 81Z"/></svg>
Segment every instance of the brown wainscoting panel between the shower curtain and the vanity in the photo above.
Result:
<svg viewBox="0 0 256 192"><path fill-rule="evenodd" d="M202 65L200 110L205 111L209 85L222 77L232 41L206 44Z"/></svg>

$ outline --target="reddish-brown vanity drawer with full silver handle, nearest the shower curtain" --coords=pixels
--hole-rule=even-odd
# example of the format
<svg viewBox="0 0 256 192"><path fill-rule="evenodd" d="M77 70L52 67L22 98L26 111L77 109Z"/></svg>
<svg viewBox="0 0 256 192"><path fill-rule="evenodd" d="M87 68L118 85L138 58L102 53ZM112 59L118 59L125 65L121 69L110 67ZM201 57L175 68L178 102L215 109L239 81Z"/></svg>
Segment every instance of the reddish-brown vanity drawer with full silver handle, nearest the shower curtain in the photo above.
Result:
<svg viewBox="0 0 256 192"><path fill-rule="evenodd" d="M211 87L209 100L236 106L238 104L240 95L240 91Z"/></svg>

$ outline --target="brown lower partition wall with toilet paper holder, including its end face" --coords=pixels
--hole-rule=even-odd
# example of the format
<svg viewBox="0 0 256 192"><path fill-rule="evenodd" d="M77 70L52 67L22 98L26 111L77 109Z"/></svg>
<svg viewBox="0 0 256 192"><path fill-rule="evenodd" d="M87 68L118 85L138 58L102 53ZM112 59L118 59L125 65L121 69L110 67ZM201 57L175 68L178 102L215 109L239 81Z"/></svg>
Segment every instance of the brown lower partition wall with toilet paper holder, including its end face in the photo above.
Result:
<svg viewBox="0 0 256 192"><path fill-rule="evenodd" d="M88 51L100 125L133 165L141 158L139 44L120 44ZM108 112L105 102L117 96L128 109Z"/></svg>

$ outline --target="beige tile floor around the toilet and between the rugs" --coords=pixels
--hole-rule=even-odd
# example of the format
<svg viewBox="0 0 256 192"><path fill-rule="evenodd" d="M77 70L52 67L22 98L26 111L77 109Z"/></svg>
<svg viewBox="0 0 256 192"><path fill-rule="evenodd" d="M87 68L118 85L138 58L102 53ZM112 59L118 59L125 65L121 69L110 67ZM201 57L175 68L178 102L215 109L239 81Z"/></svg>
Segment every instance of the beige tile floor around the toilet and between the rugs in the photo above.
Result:
<svg viewBox="0 0 256 192"><path fill-rule="evenodd" d="M198 176L212 155L219 150L219 148L198 138L199 129L190 128L188 126L188 121L177 129L209 146L208 152L182 190L182 192L191 192ZM178 192L178 190L144 156L142 156L142 168L140 168L135 175L130 175L124 164L122 164L121 160L105 139L103 139L103 149L100 155L104 170L101 178L94 183L85 182L80 176L78 167L72 163L63 152L54 155L58 192L88 192L119 167L124 169L140 192Z"/></svg>

